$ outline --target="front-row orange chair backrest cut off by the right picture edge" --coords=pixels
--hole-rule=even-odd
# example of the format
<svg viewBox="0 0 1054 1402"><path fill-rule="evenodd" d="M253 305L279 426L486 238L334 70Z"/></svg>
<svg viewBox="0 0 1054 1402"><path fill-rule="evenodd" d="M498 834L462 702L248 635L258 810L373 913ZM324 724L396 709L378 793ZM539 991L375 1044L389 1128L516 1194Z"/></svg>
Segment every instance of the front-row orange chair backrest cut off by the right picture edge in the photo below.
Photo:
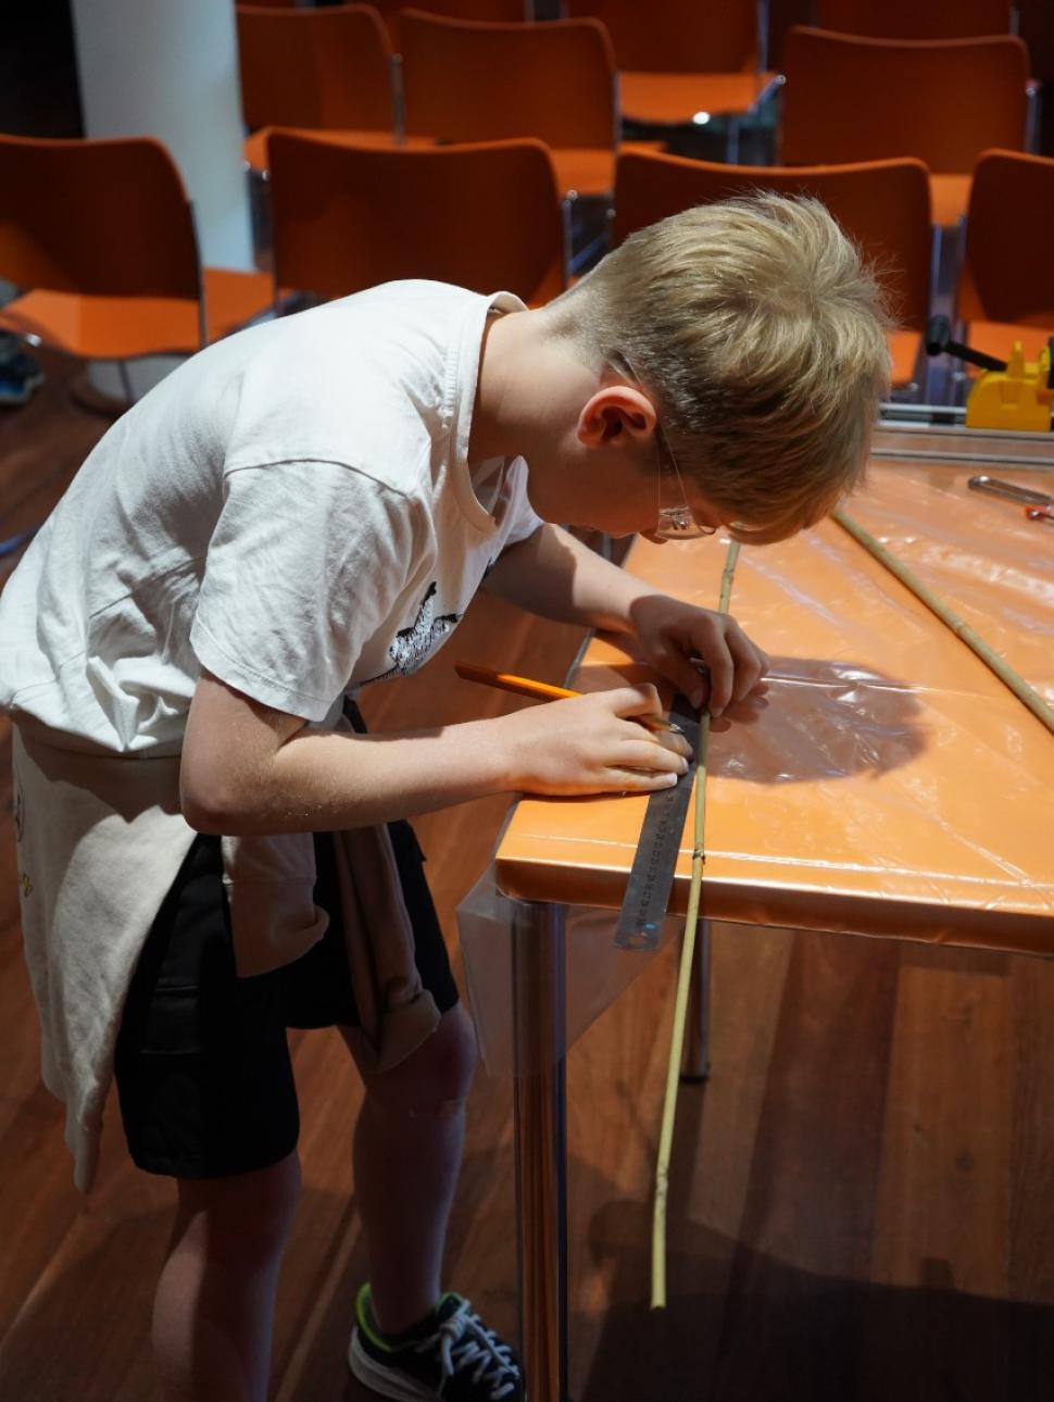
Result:
<svg viewBox="0 0 1054 1402"><path fill-rule="evenodd" d="M1054 329L1054 160L985 151L974 168L959 314Z"/></svg>

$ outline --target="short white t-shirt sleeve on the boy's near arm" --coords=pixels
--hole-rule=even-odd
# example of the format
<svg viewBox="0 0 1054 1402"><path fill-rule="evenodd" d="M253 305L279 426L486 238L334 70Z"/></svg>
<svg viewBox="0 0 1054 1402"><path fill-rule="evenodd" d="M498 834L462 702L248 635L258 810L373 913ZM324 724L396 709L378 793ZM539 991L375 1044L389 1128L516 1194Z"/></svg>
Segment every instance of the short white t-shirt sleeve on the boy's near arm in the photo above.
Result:
<svg viewBox="0 0 1054 1402"><path fill-rule="evenodd" d="M198 660L264 705L324 719L412 569L416 515L339 463L228 471L191 628Z"/></svg>

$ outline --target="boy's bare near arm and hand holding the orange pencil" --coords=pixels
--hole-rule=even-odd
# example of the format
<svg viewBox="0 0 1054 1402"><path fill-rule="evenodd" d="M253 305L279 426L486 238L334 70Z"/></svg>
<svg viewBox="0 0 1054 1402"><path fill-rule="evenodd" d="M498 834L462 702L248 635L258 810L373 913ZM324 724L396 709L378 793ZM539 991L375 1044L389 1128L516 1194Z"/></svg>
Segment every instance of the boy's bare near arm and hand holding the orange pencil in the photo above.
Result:
<svg viewBox="0 0 1054 1402"><path fill-rule="evenodd" d="M687 753L632 721L657 708L655 687L618 687L436 730L320 733L203 672L181 806L199 831L251 836L364 827L500 792L652 792Z"/></svg>

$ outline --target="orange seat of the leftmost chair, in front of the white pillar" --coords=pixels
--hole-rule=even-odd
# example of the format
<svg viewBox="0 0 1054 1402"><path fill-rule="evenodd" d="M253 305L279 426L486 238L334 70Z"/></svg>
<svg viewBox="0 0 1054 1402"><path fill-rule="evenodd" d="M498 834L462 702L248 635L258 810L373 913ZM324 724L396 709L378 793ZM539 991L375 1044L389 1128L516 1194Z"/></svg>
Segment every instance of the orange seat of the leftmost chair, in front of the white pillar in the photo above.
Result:
<svg viewBox="0 0 1054 1402"><path fill-rule="evenodd" d="M206 268L209 341L237 331L272 304L268 273ZM38 336L84 360L192 355L200 349L198 304L177 297L87 297L28 292L0 313L0 329Z"/></svg>

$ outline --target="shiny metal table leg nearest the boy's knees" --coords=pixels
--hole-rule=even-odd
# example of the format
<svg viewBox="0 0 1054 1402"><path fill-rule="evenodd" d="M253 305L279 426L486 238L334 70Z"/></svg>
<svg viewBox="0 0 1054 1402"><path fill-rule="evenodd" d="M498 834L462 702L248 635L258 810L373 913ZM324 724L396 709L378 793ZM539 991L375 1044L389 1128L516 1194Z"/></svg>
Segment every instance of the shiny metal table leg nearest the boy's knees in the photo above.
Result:
<svg viewBox="0 0 1054 1402"><path fill-rule="evenodd" d="M520 1335L531 1402L568 1398L565 914L517 903L512 931Z"/></svg>

